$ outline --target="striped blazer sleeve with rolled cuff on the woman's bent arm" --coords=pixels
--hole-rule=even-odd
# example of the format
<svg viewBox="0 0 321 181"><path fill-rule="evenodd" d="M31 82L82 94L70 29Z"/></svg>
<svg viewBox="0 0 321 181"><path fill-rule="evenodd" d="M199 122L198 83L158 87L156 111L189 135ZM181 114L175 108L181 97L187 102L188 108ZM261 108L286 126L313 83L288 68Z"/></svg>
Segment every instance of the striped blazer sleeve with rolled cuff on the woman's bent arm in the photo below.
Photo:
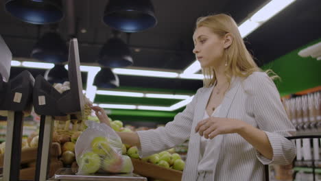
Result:
<svg viewBox="0 0 321 181"><path fill-rule="evenodd" d="M296 156L296 146L285 136L296 131L289 121L274 82L266 73L257 73L254 84L254 119L269 138L272 160L257 150L257 158L264 164L289 165Z"/></svg>

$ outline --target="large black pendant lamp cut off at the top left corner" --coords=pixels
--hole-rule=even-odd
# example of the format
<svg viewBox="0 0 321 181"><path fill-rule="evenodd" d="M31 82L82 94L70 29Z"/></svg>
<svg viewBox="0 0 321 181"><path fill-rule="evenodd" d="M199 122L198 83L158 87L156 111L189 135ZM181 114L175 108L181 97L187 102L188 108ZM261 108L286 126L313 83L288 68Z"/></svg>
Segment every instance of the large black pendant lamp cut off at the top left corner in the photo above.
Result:
<svg viewBox="0 0 321 181"><path fill-rule="evenodd" d="M6 0L5 9L26 23L57 23L64 17L61 0Z"/></svg>

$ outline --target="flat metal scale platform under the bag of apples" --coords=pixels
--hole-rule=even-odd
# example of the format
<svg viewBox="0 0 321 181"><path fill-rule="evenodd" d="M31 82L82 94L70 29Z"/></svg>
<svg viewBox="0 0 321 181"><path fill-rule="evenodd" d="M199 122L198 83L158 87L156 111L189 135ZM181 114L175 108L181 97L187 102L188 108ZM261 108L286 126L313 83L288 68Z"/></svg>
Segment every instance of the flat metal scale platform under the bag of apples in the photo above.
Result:
<svg viewBox="0 0 321 181"><path fill-rule="evenodd" d="M50 181L73 181L73 180L90 180L90 181L147 181L147 178L138 176L135 173L96 173L95 175L75 175L70 168L62 168L56 171Z"/></svg>

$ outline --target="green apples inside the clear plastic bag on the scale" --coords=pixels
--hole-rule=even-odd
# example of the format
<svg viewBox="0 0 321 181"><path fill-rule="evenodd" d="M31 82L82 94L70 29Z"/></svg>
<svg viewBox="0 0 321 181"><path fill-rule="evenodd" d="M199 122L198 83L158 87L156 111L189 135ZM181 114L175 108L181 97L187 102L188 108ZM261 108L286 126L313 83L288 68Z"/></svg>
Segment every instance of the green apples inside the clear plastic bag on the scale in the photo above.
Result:
<svg viewBox="0 0 321 181"><path fill-rule="evenodd" d="M133 171L132 160L126 155L115 152L113 147L121 147L122 143L104 136L97 136L91 141L91 149L84 152L77 160L78 173L129 173Z"/></svg>

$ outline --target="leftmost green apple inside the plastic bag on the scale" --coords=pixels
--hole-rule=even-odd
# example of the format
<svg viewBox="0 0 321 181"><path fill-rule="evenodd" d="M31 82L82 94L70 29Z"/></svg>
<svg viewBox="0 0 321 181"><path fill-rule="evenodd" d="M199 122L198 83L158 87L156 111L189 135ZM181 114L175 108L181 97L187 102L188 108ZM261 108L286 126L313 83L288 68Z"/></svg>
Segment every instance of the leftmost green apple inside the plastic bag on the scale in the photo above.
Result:
<svg viewBox="0 0 321 181"><path fill-rule="evenodd" d="M96 173L100 167L100 157L94 152L86 152L78 160L80 173Z"/></svg>

